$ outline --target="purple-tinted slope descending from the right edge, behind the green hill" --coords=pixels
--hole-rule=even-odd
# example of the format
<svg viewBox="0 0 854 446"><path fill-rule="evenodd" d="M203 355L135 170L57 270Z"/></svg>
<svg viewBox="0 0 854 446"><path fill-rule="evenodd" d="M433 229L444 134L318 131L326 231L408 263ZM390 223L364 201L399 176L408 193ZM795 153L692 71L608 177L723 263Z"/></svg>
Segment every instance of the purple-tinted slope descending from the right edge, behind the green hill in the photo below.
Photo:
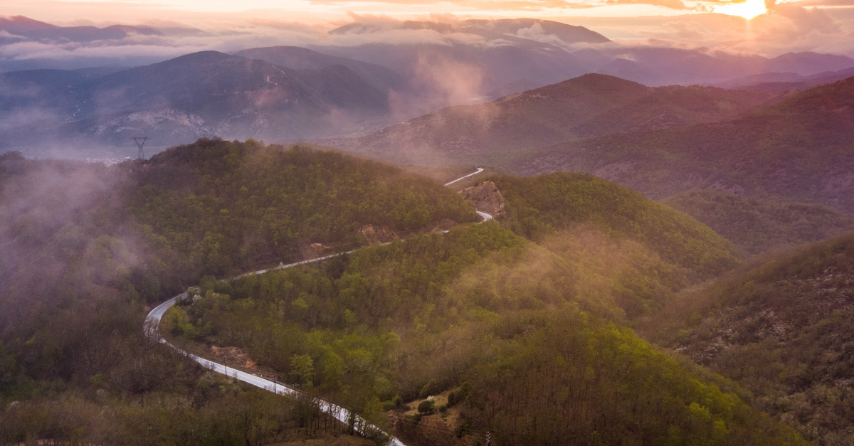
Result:
<svg viewBox="0 0 854 446"><path fill-rule="evenodd" d="M525 150L514 173L588 172L647 197L715 189L854 211L854 78L729 122L630 132Z"/></svg>

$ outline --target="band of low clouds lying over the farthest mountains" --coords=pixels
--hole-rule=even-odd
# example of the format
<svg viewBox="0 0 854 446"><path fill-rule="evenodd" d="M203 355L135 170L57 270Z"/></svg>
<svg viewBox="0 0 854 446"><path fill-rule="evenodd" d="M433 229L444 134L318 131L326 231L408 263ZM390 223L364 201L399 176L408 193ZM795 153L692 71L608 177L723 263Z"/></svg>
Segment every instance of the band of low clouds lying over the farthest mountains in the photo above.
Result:
<svg viewBox="0 0 854 446"><path fill-rule="evenodd" d="M324 1L324 0L319 0ZM395 0L398 1L398 0ZM404 0L400 0L404 1ZM515 1L515 0L514 0ZM632 5L657 4L670 9L690 10L697 2L689 0L590 0L595 4ZM717 1L717 0L716 0ZM804 0L804 2L854 2L854 0ZM627 18L564 18L562 21L587 25L617 41L619 44L661 45L678 48L707 47L734 53L757 53L777 56L788 51L812 50L852 54L854 51L854 20L837 15L834 9L804 7L809 3L769 3L769 11L753 21L719 14L686 14L659 17ZM465 3L465 2L463 2ZM500 2L507 7L513 2ZM525 2L516 2L525 3ZM537 7L569 4L548 0L526 3ZM704 4L709 4L705 2ZM594 3L572 3L590 6ZM404 21L389 15L349 13L348 21L338 21L333 26L311 21L255 16L249 20L205 21L194 28L190 21L169 18L149 19L145 25L169 30L195 30L167 32L166 36L131 35L114 41L67 43L28 41L0 32L0 70L31 67L86 67L97 65L143 65L161 62L172 57L201 50L219 50L227 53L246 48L295 45L324 51L325 48L348 48L365 44L434 44L442 46L472 45L500 46L512 43L512 38L524 38L545 44L554 44L568 50L599 48L601 45L563 44L560 38L544 31L539 24L518 29L512 38L484 38L461 32L459 15L411 16L413 20L426 20L452 25L442 32L436 29L401 29ZM364 29L347 34L329 34L334 26L358 22ZM607 46L607 45L606 45ZM331 51L331 52L334 52Z"/></svg>

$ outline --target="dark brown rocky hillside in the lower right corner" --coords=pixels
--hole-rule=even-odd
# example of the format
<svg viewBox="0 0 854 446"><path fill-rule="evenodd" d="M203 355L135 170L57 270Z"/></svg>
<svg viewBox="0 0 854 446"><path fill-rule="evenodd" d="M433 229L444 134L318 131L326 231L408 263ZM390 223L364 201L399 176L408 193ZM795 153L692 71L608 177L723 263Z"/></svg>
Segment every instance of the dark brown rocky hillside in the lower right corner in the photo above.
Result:
<svg viewBox="0 0 854 446"><path fill-rule="evenodd" d="M851 234L775 255L681 302L649 335L816 444L850 443L852 265Z"/></svg>

